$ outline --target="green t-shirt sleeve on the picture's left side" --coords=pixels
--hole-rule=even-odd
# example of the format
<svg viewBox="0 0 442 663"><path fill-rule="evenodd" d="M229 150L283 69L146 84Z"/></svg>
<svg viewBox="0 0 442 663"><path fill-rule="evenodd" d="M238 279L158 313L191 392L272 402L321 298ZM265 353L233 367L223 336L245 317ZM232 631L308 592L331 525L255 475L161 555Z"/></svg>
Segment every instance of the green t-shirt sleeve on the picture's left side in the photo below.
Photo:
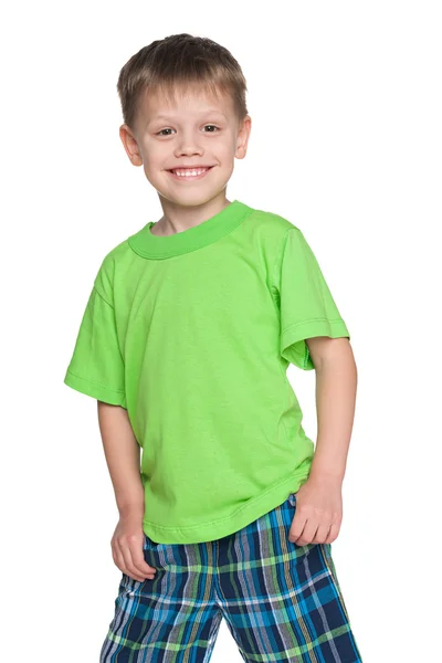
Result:
<svg viewBox="0 0 442 663"><path fill-rule="evenodd" d="M104 261L90 294L64 383L97 400L126 408L125 367Z"/></svg>

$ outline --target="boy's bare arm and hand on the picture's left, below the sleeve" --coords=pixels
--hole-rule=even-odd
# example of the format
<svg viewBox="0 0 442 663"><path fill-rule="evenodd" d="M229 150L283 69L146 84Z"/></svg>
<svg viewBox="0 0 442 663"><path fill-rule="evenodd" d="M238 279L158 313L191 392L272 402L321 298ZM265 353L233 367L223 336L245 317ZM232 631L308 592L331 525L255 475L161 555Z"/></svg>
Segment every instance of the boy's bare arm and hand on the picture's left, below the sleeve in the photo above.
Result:
<svg viewBox="0 0 442 663"><path fill-rule="evenodd" d="M112 538L116 566L135 580L154 577L156 569L143 555L143 517L145 494L140 476L139 444L134 435L127 410L97 401L98 424L119 520Z"/></svg>

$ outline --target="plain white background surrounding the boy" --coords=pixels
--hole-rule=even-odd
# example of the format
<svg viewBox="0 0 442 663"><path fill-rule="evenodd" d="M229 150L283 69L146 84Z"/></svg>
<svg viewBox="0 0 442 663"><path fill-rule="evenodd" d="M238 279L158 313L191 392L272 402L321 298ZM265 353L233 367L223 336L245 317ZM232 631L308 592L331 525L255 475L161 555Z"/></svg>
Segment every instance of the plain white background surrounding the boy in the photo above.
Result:
<svg viewBox="0 0 442 663"><path fill-rule="evenodd" d="M116 82L178 32L231 50L252 134L228 198L303 230L358 400L334 559L365 663L442 660L439 2L21 2L3 11L2 656L96 663L120 577L96 402L63 385L103 256L162 213ZM315 375L288 376L315 439ZM225 623L212 661L242 660Z"/></svg>

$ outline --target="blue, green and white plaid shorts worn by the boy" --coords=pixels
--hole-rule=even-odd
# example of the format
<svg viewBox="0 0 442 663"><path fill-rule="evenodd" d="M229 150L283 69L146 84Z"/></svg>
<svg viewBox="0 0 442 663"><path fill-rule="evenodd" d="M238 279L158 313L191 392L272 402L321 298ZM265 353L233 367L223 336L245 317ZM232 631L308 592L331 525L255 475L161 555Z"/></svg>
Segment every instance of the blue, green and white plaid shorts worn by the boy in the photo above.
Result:
<svg viewBox="0 0 442 663"><path fill-rule="evenodd" d="M99 663L207 663L222 617L248 663L361 662L330 544L288 540L296 494L223 538L157 544L123 573Z"/></svg>

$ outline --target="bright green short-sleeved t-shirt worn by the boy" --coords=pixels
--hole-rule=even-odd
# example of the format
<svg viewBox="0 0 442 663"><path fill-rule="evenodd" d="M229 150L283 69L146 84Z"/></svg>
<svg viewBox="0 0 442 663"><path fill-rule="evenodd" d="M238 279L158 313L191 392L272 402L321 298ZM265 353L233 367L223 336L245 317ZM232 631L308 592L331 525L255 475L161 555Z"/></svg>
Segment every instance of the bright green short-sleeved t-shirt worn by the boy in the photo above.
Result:
<svg viewBox="0 0 442 663"><path fill-rule="evenodd" d="M143 527L221 538L307 480L314 443L288 381L306 338L348 337L302 231L234 200L186 231L154 222L96 275L65 383L127 409L143 448Z"/></svg>

